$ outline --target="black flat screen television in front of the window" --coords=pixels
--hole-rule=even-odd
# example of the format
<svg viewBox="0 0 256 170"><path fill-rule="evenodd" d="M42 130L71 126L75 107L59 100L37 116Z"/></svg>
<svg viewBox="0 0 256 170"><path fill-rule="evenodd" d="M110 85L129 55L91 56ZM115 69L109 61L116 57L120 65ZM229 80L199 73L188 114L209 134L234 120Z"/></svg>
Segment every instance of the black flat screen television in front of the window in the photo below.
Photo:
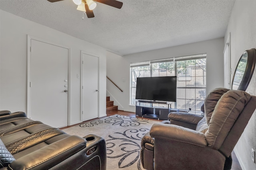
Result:
<svg viewBox="0 0 256 170"><path fill-rule="evenodd" d="M176 102L177 77L138 77L136 99Z"/></svg>

